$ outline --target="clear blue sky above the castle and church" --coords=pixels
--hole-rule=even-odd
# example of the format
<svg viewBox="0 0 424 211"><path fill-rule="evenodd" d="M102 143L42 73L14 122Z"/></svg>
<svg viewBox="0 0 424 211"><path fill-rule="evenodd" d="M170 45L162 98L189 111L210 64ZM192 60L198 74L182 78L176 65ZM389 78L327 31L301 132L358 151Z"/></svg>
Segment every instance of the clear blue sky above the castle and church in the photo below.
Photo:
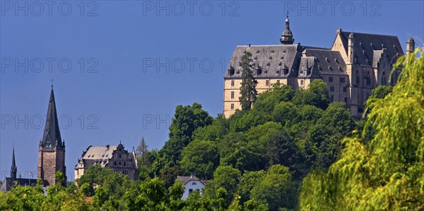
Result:
<svg viewBox="0 0 424 211"><path fill-rule="evenodd" d="M336 29L423 45L423 1L0 1L0 171L11 149L37 171L51 79L66 167L88 145L160 148L178 104L223 111L223 76L243 44L331 47Z"/></svg>

